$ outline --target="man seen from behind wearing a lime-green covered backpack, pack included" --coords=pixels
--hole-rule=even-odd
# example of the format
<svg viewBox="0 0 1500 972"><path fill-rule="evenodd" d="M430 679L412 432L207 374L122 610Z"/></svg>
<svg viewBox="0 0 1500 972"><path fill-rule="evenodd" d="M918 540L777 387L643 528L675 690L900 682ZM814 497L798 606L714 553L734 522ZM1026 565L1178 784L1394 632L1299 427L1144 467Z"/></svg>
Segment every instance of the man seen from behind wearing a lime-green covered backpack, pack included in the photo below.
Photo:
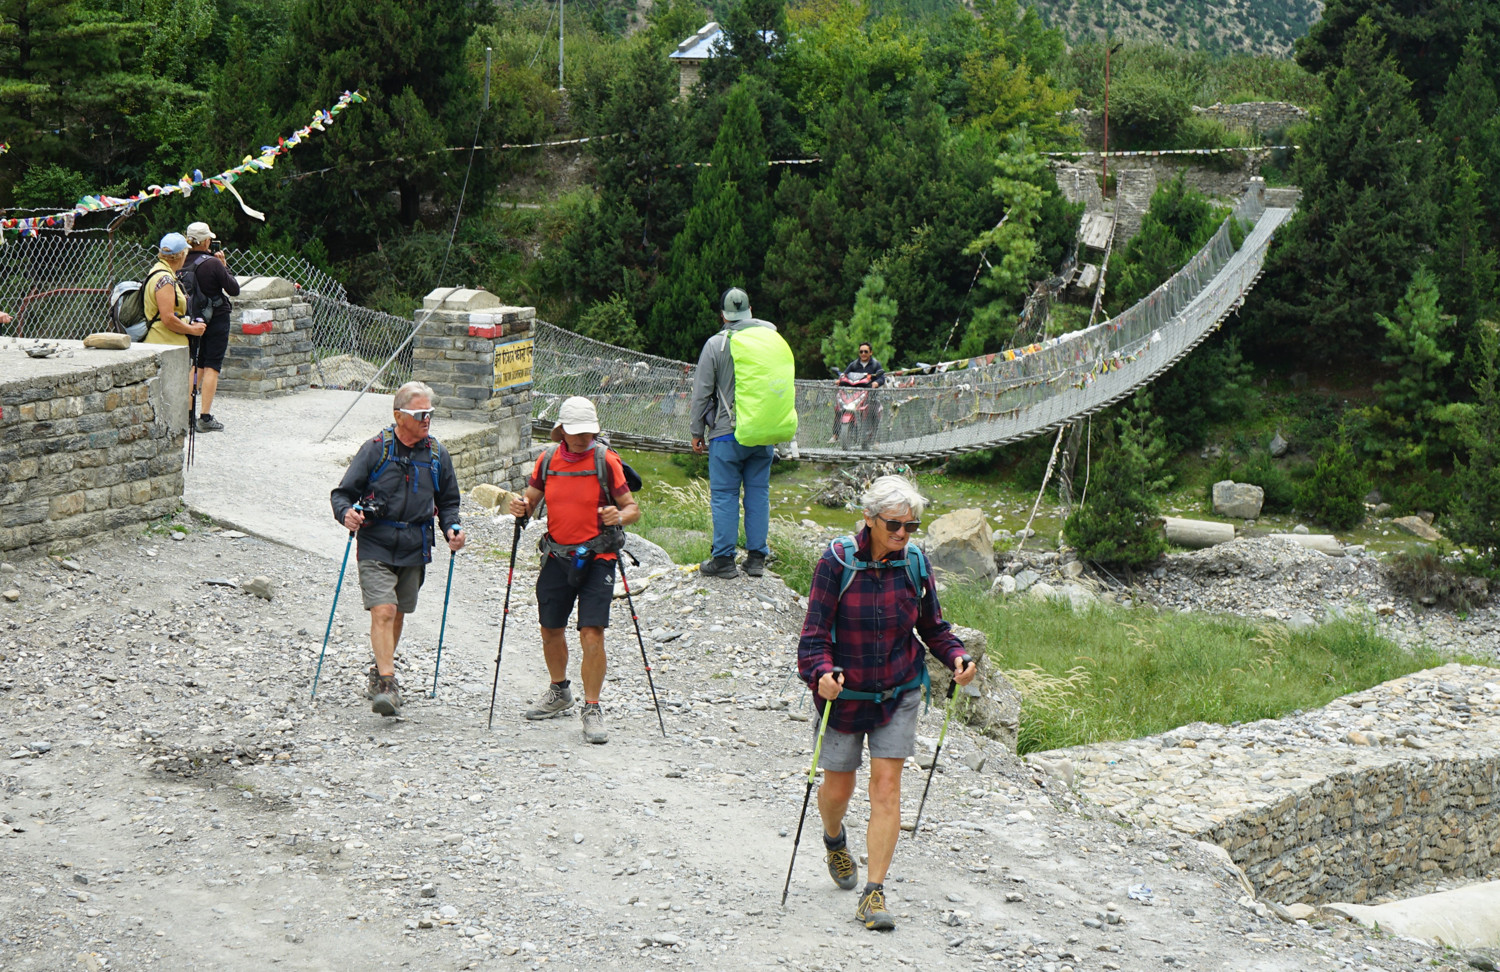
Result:
<svg viewBox="0 0 1500 972"><path fill-rule="evenodd" d="M708 440L708 486L714 513L711 556L698 566L698 572L708 578L740 576L735 550L742 486L744 568L752 578L759 578L765 574L765 558L771 554L766 534L771 528L772 442L796 435L790 350L786 339L776 333L776 324L752 316L750 296L738 286L723 292L720 318L724 328L704 342L688 404L693 452L702 454L705 435ZM736 364L740 380L735 376Z"/></svg>

